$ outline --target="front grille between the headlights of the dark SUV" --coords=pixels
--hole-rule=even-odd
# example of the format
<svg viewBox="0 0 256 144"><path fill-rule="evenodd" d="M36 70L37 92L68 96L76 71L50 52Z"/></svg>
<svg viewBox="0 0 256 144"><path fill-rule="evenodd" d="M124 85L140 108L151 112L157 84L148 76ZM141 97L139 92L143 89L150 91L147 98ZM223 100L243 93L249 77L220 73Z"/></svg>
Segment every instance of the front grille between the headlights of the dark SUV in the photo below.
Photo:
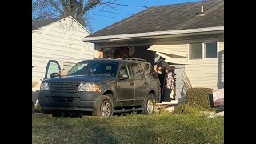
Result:
<svg viewBox="0 0 256 144"><path fill-rule="evenodd" d="M80 83L50 83L50 90L78 90Z"/></svg>

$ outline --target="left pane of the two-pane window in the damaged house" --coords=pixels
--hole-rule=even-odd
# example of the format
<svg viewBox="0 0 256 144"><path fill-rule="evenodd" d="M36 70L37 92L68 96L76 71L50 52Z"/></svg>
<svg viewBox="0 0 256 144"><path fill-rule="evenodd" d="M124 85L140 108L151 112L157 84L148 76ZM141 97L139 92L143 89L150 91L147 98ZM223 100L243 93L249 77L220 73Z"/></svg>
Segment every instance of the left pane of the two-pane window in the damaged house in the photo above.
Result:
<svg viewBox="0 0 256 144"><path fill-rule="evenodd" d="M202 59L202 43L190 44L190 59Z"/></svg>

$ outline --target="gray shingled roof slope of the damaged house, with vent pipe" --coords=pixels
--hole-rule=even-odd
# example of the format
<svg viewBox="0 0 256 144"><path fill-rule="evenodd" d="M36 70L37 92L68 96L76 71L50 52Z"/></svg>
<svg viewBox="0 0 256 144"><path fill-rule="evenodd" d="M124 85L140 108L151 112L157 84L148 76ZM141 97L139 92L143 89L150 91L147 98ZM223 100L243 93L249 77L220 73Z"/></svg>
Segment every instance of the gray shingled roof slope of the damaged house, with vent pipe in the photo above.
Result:
<svg viewBox="0 0 256 144"><path fill-rule="evenodd" d="M197 16L203 4L205 16ZM151 6L88 37L224 26L224 0Z"/></svg>

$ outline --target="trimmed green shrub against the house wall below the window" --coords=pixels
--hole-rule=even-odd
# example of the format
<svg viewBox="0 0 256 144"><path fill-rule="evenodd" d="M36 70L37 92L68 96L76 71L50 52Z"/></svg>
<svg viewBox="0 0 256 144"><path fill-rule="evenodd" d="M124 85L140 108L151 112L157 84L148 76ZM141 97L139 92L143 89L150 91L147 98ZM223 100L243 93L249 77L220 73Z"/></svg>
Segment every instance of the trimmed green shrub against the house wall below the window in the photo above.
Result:
<svg viewBox="0 0 256 144"><path fill-rule="evenodd" d="M190 107L211 110L210 95L212 90L209 88L190 88L186 91L185 104Z"/></svg>

